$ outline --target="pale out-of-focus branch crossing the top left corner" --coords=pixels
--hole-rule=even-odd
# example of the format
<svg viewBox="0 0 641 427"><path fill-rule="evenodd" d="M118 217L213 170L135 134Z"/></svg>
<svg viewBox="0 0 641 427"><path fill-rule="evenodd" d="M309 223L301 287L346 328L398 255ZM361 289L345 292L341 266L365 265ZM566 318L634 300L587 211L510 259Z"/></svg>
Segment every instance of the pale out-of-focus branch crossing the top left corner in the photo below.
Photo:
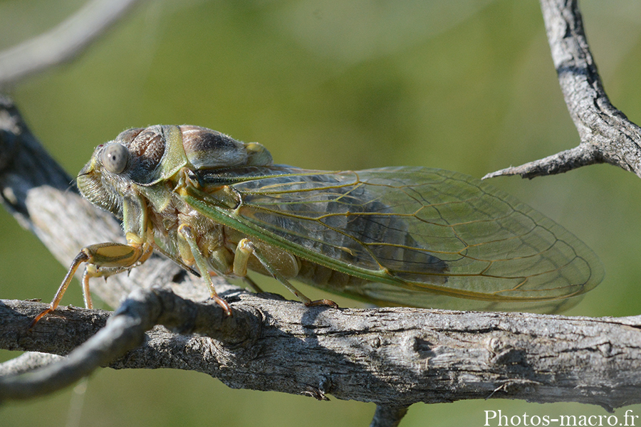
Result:
<svg viewBox="0 0 641 427"><path fill-rule="evenodd" d="M0 52L0 85L77 56L137 0L91 0L53 30Z"/></svg>

